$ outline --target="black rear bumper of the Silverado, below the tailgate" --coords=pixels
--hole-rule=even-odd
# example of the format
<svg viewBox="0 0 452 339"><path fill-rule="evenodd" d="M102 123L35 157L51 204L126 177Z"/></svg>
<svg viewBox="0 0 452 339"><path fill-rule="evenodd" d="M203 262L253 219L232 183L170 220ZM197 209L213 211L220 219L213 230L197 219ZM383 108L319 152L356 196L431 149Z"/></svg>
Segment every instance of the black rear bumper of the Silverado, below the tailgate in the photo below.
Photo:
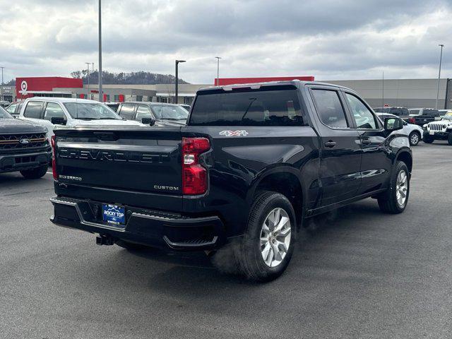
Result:
<svg viewBox="0 0 452 339"><path fill-rule="evenodd" d="M101 220L102 203L57 196L51 198L58 226L106 235L146 246L206 250L225 243L225 227L218 216L189 218L176 213L162 213L141 208L126 208L126 225Z"/></svg>

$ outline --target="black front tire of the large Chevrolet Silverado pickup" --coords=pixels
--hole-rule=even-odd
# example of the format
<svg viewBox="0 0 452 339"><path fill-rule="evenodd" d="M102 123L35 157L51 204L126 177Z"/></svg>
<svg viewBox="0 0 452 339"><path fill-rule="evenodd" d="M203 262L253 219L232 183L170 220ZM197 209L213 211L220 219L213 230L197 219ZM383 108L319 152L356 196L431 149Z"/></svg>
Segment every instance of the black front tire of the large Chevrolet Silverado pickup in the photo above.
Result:
<svg viewBox="0 0 452 339"><path fill-rule="evenodd" d="M400 172L405 172L406 175L406 192L405 201L400 204L397 198L398 189L397 181ZM405 162L398 161L391 174L390 188L384 194L379 196L378 202L380 210L384 213L398 214L402 213L408 204L408 198L410 196L410 172L408 172L408 167Z"/></svg>

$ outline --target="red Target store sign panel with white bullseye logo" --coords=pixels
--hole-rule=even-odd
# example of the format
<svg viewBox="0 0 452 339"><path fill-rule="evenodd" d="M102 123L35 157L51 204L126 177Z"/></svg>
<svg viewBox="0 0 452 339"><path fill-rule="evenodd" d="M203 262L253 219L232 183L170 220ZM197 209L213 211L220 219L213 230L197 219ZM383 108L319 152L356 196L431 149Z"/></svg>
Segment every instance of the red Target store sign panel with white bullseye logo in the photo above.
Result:
<svg viewBox="0 0 452 339"><path fill-rule="evenodd" d="M40 92L52 92L54 88L83 88L83 81L61 76L16 78L18 99L40 95Z"/></svg>

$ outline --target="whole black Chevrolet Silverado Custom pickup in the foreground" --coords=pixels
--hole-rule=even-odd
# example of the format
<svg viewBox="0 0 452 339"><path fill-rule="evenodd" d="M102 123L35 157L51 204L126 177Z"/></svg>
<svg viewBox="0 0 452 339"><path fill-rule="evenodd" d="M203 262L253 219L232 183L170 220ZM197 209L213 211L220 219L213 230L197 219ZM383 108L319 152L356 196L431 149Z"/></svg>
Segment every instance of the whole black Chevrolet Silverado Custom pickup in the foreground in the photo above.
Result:
<svg viewBox="0 0 452 339"><path fill-rule="evenodd" d="M232 242L246 277L272 280L305 219L369 197L383 212L405 210L402 127L325 83L206 88L186 126L56 130L51 220L126 248L215 255Z"/></svg>

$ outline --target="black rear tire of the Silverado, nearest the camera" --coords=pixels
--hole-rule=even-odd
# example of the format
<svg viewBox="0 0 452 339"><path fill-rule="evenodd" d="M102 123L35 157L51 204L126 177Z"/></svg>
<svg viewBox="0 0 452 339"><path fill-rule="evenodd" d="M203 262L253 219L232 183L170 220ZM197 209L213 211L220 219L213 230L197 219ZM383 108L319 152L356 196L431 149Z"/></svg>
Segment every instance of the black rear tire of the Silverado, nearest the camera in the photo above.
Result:
<svg viewBox="0 0 452 339"><path fill-rule="evenodd" d="M276 264L274 267L268 266L263 259L263 253L261 251L265 251L267 245L261 245L261 232L263 232L263 224L266 222L270 213L272 213L275 209L281 209L281 215L283 215L283 211L287 214L290 221L290 239L287 250L285 251L284 256L280 263ZM236 247L236 253L234 255L239 261L239 268L243 275L250 280L255 281L270 281L278 278L287 266L290 263L290 258L292 258L292 254L295 246L295 232L297 230L295 220L295 212L292 207L290 201L283 196L283 194L271 192L271 191L263 191L258 194L254 200L254 204L251 207L251 212L249 214L248 224L246 225L246 230L242 241L239 246ZM286 228L285 231L289 227ZM269 239L269 238L268 238ZM280 245L274 245L275 240L273 239L273 245L270 244L271 240L268 240L268 254L270 255L270 251L273 251L273 246L277 249L280 249ZM278 244L278 242L276 242ZM263 248L262 248L263 247ZM273 251L273 258L275 257L275 251ZM268 257L267 257L268 258ZM272 259L270 259L270 263L272 263Z"/></svg>

